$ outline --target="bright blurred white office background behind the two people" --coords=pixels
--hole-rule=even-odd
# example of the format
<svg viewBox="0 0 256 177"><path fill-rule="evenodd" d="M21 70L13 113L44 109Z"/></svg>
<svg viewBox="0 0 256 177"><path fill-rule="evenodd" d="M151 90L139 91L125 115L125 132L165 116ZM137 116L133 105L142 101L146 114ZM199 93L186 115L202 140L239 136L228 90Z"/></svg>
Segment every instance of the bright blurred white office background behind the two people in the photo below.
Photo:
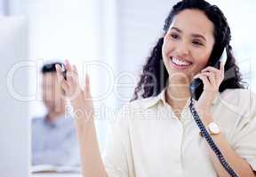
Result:
<svg viewBox="0 0 256 177"><path fill-rule="evenodd" d="M100 110L115 111L132 97L140 68L156 39L164 19L177 0L1 0L4 16L28 19L30 68L29 116L45 112L38 67L47 60L68 58L78 65L81 81L85 69L91 75L92 95ZM244 81L256 91L256 2L254 0L210 0L226 14L232 45ZM90 66L87 67L86 66ZM107 139L111 113L97 119L100 147Z"/></svg>

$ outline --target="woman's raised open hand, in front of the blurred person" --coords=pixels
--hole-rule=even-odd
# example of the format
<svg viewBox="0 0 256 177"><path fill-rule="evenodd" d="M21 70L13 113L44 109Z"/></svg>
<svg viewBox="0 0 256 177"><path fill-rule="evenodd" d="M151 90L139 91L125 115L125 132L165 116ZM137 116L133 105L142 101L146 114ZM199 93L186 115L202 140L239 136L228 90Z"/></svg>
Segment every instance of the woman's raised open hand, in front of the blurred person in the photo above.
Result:
<svg viewBox="0 0 256 177"><path fill-rule="evenodd" d="M73 106L76 119L93 119L94 110L88 74L86 73L85 75L83 89L79 84L76 65L70 65L68 60L66 60L65 68L67 70L67 80L64 79L60 65L56 65L57 77L60 87L64 90L65 96L68 97L71 105Z"/></svg>

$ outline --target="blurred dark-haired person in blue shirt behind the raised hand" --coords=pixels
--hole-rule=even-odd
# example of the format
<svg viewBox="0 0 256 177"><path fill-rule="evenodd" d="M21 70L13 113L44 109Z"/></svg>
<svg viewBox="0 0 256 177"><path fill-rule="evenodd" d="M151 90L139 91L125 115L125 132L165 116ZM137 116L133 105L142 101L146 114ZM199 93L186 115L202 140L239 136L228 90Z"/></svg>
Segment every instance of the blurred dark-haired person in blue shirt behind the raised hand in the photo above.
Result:
<svg viewBox="0 0 256 177"><path fill-rule="evenodd" d="M47 109L41 118L32 120L32 165L78 165L75 125L67 112L65 92L57 84L55 65L45 64L43 101Z"/></svg>

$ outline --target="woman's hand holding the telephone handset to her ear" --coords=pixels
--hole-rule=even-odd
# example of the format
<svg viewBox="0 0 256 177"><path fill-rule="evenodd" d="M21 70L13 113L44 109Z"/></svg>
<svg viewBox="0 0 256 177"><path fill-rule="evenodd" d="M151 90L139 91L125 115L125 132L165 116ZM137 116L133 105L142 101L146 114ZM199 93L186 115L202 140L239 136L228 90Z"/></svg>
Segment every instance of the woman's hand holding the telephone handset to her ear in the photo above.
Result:
<svg viewBox="0 0 256 177"><path fill-rule="evenodd" d="M220 69L212 66L204 68L194 76L204 83L204 91L196 103L197 112L210 112L211 104L218 94L220 83L224 80L224 63L220 62Z"/></svg>

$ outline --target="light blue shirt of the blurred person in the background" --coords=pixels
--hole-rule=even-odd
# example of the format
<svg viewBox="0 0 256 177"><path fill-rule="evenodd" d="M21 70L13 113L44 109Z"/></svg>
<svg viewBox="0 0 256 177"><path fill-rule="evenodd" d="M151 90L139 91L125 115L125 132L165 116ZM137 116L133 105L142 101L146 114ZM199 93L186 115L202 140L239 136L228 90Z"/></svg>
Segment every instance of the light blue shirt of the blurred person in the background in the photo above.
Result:
<svg viewBox="0 0 256 177"><path fill-rule="evenodd" d="M46 116L32 120L33 165L79 165L78 142L73 119L70 116L53 123Z"/></svg>

